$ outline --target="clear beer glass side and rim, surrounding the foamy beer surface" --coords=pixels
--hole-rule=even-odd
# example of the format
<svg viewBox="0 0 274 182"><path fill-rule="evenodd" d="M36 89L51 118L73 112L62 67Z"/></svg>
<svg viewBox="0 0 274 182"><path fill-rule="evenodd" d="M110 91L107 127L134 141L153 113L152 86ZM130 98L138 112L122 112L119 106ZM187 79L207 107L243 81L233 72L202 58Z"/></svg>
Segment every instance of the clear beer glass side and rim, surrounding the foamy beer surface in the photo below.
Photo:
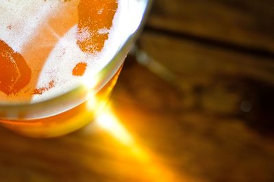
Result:
<svg viewBox="0 0 274 182"><path fill-rule="evenodd" d="M96 75L75 88L36 103L0 103L0 124L16 133L50 138L71 133L87 125L108 101L125 57L145 21L150 0L128 0L127 16L119 50Z"/></svg>

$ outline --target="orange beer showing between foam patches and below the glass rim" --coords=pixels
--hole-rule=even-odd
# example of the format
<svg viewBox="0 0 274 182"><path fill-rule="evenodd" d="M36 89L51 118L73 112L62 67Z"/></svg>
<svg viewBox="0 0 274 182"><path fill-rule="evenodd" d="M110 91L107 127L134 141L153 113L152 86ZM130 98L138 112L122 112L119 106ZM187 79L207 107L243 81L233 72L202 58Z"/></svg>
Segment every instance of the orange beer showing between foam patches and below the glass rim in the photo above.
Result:
<svg viewBox="0 0 274 182"><path fill-rule="evenodd" d="M88 31L92 35L84 41L77 40L78 47L88 54L101 51L105 40L108 39L108 33L99 34L98 31L112 27L114 14L118 8L117 0L71 0L64 1L64 3L65 5L58 11L58 14L50 17L48 24L51 29L62 37L77 23L77 34ZM12 29L12 27L9 28ZM46 47L40 53L33 51L38 44L45 42L51 42L53 46ZM31 101L34 94L42 94L55 86L54 80L50 81L49 86L45 88L36 88L36 83L45 60L57 42L58 39L46 26L39 27L39 34L28 42L21 54L14 52L8 44L0 40L0 101ZM79 62L71 74L84 75L86 66L86 63ZM99 103L107 100L120 70L95 95ZM0 118L0 122L4 127L23 135L47 138L63 135L83 127L92 120L97 109L99 108L90 111L86 102L67 112L48 118L37 120L25 120L24 118L1 120Z"/></svg>

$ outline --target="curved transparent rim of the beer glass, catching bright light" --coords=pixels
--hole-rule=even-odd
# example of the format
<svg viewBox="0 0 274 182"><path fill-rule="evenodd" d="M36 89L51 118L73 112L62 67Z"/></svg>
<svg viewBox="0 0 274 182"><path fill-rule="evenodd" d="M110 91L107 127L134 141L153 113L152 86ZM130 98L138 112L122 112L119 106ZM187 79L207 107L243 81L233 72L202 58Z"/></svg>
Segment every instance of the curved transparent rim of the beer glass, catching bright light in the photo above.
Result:
<svg viewBox="0 0 274 182"><path fill-rule="evenodd" d="M142 3L140 5L140 8L142 8L140 12L140 20L138 20L139 22L136 23L136 27L132 29L132 32L129 32L129 35L126 36L127 38L125 39L125 42L121 43L120 49L114 54L110 62L108 62L108 64L105 64L105 66L103 66L103 68L95 75L95 79L98 80L99 83L97 86L95 86L95 88L92 88L92 90L95 90L95 93L99 91L101 88L103 88L103 86L105 86L105 84L108 83L108 81L115 75L115 73L122 66L124 59L121 59L121 57L126 57L129 49L132 47L132 44L136 41L138 34L140 34L140 31L144 26L145 19L147 19L147 14L152 4L152 0L129 1L136 1L137 3ZM8 120L17 120L18 118L21 118L21 113L29 111L32 111L32 113L41 112L41 109L44 110L43 113L45 114L45 110L51 109L53 105L56 106L56 103L63 107L62 112L65 112L81 103L84 103L84 101L88 99L87 94L89 91L90 90L88 90L83 83L80 83L78 86L72 88L68 92L54 96L44 101L38 101L34 103L0 103L0 120L2 118ZM69 101L71 101L70 104L68 99ZM47 117L53 115L56 114L48 114ZM36 117L40 118L39 116ZM31 119L36 119L36 117L31 117Z"/></svg>

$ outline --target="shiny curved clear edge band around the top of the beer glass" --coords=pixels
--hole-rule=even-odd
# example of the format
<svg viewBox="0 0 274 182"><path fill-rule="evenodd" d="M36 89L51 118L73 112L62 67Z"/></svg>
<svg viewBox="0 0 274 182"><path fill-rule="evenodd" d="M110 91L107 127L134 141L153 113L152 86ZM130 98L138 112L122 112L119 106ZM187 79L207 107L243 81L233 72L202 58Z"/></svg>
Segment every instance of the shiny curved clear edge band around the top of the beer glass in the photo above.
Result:
<svg viewBox="0 0 274 182"><path fill-rule="evenodd" d="M62 112L66 112L73 107L83 103L88 99L88 92L98 91L100 88L105 86L105 83L115 75L117 70L123 64L125 57L129 49L132 47L142 27L147 19L147 14L151 8L152 0L129 0L134 2L136 6L135 11L139 11L138 16L134 16L136 20L129 29L129 35L127 39L122 43L119 51L114 55L112 60L95 76L99 85L92 90L87 89L84 84L77 86L73 90L66 92L60 96L55 96L49 100L40 101L38 103L16 103L9 104L5 103L0 105L0 119L18 120L24 118L24 120L34 120L54 116ZM139 9L138 9L139 8ZM135 24L136 23L136 24ZM111 70L111 73L110 73Z"/></svg>

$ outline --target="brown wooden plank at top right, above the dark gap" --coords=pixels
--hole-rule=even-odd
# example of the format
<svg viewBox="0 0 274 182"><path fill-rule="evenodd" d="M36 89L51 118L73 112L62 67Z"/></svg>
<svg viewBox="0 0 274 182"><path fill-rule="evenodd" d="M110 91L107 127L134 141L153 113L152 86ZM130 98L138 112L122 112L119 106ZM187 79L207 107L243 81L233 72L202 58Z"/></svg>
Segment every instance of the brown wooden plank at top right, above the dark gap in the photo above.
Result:
<svg viewBox="0 0 274 182"><path fill-rule="evenodd" d="M274 1L157 0L149 26L274 52Z"/></svg>

